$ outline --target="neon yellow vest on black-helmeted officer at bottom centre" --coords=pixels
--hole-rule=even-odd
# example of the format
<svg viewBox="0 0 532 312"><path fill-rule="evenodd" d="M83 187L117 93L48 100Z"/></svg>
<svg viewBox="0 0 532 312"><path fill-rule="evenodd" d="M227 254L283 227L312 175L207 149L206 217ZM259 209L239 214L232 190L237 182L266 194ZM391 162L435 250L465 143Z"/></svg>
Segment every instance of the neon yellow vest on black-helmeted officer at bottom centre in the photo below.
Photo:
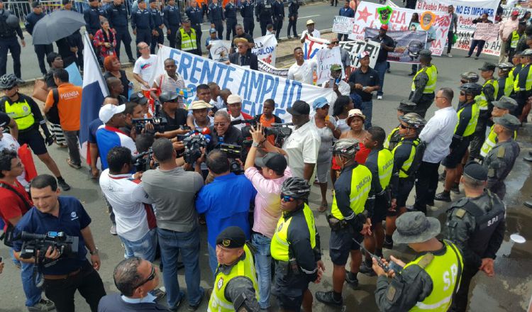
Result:
<svg viewBox="0 0 532 312"><path fill-rule="evenodd" d="M311 248L316 247L316 223L314 222L314 214L309 208L309 205L304 204L303 213L306 220L306 225L309 228ZM292 217L284 220L283 216L277 221L277 227L272 237L272 243L270 244L270 252L272 258L278 261L288 262L290 260L290 244L288 241L288 228L292 222Z"/></svg>

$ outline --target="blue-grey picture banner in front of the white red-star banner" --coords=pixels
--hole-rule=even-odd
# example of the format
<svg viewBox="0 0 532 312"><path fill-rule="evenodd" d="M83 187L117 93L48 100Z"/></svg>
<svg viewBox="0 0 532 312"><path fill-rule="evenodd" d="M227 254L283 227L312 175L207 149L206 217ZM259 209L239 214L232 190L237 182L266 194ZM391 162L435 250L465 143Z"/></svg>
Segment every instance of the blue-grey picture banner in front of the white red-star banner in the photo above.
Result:
<svg viewBox="0 0 532 312"><path fill-rule="evenodd" d="M378 29L366 28L367 38L375 37L378 33ZM395 50L388 52L389 62L419 64L419 51L427 41L426 31L388 31L386 34L396 42Z"/></svg>

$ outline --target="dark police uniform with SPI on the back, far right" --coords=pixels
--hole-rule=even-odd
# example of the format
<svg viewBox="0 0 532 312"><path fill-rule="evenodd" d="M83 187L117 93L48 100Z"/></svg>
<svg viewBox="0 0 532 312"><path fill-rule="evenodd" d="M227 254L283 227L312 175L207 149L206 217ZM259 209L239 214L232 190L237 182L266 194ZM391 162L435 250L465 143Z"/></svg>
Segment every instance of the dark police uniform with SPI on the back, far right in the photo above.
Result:
<svg viewBox="0 0 532 312"><path fill-rule="evenodd" d="M471 279L483 258L495 259L504 238L506 206L491 191L475 198L463 198L447 211L445 238L453 241L464 258L460 288L450 311L465 311Z"/></svg>

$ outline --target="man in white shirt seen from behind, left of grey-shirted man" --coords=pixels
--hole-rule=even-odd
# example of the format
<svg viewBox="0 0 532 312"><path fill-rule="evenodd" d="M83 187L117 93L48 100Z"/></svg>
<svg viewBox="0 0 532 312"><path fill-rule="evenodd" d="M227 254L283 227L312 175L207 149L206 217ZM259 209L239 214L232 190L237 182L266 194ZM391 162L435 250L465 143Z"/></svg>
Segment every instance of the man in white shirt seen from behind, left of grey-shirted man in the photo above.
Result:
<svg viewBox="0 0 532 312"><path fill-rule="evenodd" d="M140 180L131 177L132 157L127 147L113 147L107 155L108 169L101 172L100 187L113 207L116 233L126 249L124 257L154 261L157 221Z"/></svg>

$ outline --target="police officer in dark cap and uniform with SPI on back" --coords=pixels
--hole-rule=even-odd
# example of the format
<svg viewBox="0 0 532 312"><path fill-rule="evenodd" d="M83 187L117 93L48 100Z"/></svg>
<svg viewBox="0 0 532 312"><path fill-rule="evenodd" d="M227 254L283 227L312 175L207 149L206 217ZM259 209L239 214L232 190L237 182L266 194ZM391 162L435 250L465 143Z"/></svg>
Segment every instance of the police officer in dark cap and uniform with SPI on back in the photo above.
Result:
<svg viewBox="0 0 532 312"><path fill-rule="evenodd" d="M469 285L479 270L494 276L493 260L504 238L506 205L487 189L487 176L488 170L476 162L465 166L460 180L465 198L447 211L445 238L464 257L462 281L449 311L466 311Z"/></svg>

